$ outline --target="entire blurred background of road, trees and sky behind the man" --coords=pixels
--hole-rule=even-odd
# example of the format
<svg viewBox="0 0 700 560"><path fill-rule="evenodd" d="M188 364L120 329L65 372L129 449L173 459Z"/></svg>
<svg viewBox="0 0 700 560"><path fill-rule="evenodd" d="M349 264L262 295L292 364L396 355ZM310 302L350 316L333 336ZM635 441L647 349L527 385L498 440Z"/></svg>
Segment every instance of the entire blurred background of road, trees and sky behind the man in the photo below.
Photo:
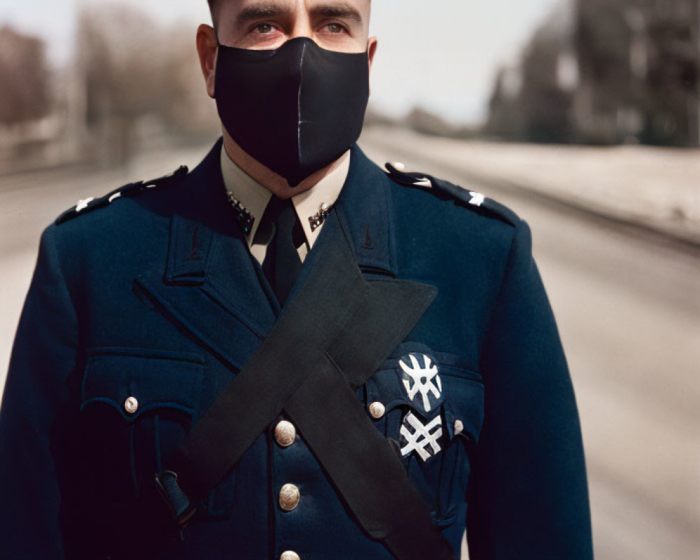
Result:
<svg viewBox="0 0 700 560"><path fill-rule="evenodd" d="M530 223L596 558L699 559L700 1L373 4L360 146ZM45 225L218 137L208 20L205 0L0 7L0 388Z"/></svg>

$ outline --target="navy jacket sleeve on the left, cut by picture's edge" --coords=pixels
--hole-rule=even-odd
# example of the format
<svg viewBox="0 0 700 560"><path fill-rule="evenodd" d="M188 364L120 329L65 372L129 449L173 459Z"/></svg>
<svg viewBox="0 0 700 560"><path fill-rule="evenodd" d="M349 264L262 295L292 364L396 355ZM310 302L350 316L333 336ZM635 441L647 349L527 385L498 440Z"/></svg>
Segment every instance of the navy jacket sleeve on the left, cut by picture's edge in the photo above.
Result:
<svg viewBox="0 0 700 560"><path fill-rule="evenodd" d="M62 559L62 478L70 448L69 376L77 321L55 246L41 236L38 259L15 335L0 405L2 556ZM68 516L69 517L69 516Z"/></svg>

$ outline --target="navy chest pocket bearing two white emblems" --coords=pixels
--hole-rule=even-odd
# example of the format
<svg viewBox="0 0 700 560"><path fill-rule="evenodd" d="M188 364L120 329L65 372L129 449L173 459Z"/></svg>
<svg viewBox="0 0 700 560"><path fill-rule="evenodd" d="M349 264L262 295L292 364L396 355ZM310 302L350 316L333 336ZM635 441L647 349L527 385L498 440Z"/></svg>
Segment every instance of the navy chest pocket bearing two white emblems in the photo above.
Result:
<svg viewBox="0 0 700 560"><path fill-rule="evenodd" d="M465 512L469 455L484 421L484 385L454 354L405 343L365 384L367 414L395 440L433 522Z"/></svg>

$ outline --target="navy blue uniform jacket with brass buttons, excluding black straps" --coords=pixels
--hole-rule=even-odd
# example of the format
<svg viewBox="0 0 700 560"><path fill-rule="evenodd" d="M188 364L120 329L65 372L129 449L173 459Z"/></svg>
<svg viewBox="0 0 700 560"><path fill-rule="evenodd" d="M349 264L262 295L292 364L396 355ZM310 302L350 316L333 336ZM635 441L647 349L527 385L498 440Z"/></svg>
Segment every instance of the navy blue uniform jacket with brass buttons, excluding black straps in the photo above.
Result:
<svg viewBox="0 0 700 560"><path fill-rule="evenodd" d="M44 230L0 409L3 558L391 558L303 434L281 447L262 433L183 540L160 529L153 474L280 313L226 199L220 149L176 181ZM316 243L329 241L346 244L368 280L437 288L357 396L368 416L372 402L384 405L370 417L404 446L409 412L424 424L440 417L435 446L408 447L402 461L456 556L466 528L472 560L590 559L575 398L526 223L488 200L402 185L353 146ZM297 284L323 267L314 253ZM148 274L209 302L169 307L158 286L139 283ZM399 362L411 356L437 365L430 414L407 391ZM293 511L279 507L286 483L300 489Z"/></svg>

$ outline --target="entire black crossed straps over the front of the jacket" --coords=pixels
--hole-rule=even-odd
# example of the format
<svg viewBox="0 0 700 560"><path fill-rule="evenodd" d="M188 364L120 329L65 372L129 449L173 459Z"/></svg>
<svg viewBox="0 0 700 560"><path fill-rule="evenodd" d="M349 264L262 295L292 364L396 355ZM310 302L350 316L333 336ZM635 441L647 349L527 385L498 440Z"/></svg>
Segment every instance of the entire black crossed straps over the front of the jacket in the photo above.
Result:
<svg viewBox="0 0 700 560"><path fill-rule="evenodd" d="M206 496L284 411L367 533L399 560L451 560L451 547L431 523L395 449L355 394L419 321L435 288L367 282L345 244L326 244L323 251L318 272L164 463L162 489L176 516L185 519L188 498ZM173 472L176 478L167 476Z"/></svg>

